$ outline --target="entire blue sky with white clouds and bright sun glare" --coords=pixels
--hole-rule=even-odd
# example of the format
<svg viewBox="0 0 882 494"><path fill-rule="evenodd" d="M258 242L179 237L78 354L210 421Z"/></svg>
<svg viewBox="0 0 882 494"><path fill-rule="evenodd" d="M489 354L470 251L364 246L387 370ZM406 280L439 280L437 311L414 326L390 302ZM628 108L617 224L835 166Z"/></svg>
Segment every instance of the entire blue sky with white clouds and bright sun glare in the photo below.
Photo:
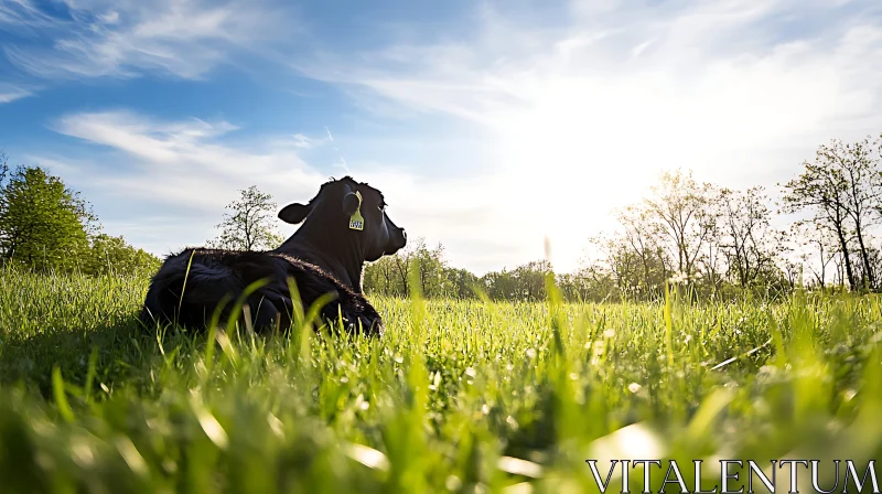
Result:
<svg viewBox="0 0 882 494"><path fill-rule="evenodd" d="M880 116L879 0L0 0L0 149L157 255L351 174L453 266L569 271L664 170L774 193Z"/></svg>

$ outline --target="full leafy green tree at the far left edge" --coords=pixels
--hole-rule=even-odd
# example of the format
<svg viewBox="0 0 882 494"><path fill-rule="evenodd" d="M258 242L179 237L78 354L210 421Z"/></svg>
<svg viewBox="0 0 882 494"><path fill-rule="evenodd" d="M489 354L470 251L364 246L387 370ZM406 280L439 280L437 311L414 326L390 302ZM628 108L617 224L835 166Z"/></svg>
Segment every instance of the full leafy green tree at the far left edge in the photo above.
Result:
<svg viewBox="0 0 882 494"><path fill-rule="evenodd" d="M40 167L19 167L0 189L0 258L37 269L72 269L88 250L95 216Z"/></svg>

